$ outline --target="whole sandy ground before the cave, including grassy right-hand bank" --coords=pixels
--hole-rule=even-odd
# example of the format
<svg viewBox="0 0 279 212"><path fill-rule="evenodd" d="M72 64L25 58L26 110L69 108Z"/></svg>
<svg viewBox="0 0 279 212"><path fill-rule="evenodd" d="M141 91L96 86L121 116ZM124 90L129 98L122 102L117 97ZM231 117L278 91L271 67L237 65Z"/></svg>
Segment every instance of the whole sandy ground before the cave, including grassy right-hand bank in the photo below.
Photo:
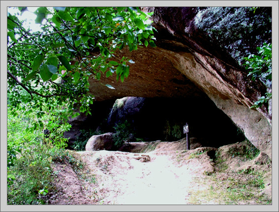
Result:
<svg viewBox="0 0 279 212"><path fill-rule="evenodd" d="M55 205L269 205L271 162L247 144L185 151L164 142L145 153L72 151L55 164Z"/></svg>

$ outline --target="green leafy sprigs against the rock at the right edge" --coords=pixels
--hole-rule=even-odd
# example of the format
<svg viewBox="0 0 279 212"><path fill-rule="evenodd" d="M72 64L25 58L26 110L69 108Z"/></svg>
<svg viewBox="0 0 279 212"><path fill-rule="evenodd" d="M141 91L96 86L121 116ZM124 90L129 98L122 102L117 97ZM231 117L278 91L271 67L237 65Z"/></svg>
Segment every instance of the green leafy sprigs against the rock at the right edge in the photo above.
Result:
<svg viewBox="0 0 279 212"><path fill-rule="evenodd" d="M248 76L252 80L259 78L265 84L272 82L272 44L263 43L262 47L257 47L258 55L249 55L243 58L245 68L249 70ZM259 98L251 108L261 107L272 98L272 93L267 92L265 96Z"/></svg>

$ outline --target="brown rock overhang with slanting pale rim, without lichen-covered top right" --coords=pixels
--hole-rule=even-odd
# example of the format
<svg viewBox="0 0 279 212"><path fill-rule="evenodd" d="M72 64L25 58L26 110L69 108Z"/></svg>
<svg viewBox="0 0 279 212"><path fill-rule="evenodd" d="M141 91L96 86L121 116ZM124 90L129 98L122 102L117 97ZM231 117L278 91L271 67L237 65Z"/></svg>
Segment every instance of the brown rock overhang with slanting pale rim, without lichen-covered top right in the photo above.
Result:
<svg viewBox="0 0 279 212"><path fill-rule="evenodd" d="M125 56L135 61L129 64L128 78L124 79L124 83L117 82L115 75L110 78L102 75L100 82L92 78L90 91L96 101L125 96L209 97L217 108L224 111L245 132L252 144L271 157L269 105L257 110L249 108L265 94L267 88L260 81L249 80L245 69L234 60L234 53L228 52L226 46L229 43L224 43L222 48L217 40L207 42L208 37L199 34L202 30L195 26L194 19L199 10L203 9L151 8L155 11L157 47L143 46L133 52L124 48L117 52L116 57L121 59ZM252 44L257 45L258 42ZM249 46L248 49L251 51L253 48ZM235 50L237 48L232 51ZM115 89L109 89L104 86L106 84Z"/></svg>

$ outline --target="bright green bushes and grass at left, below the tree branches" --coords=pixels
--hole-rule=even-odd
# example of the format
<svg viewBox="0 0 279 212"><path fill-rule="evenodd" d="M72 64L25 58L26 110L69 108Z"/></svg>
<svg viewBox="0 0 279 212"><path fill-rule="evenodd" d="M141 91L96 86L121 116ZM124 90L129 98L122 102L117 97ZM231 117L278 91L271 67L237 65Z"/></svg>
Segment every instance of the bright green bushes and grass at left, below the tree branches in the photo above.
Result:
<svg viewBox="0 0 279 212"><path fill-rule="evenodd" d="M46 103L38 102L38 107L30 110L28 104L32 103L15 108L8 104L7 108L8 204L45 204L55 189L51 163L67 158L63 153L67 141L63 133L70 126L64 123L66 109L54 102L56 110L43 112L47 111ZM45 128L50 130L48 137L43 134Z"/></svg>

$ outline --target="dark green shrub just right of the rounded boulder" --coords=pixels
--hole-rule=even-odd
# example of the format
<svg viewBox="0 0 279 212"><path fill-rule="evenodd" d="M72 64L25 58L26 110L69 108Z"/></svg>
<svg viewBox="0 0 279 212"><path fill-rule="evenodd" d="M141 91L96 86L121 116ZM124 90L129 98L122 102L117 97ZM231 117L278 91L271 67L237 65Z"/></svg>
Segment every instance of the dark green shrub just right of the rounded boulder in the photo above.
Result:
<svg viewBox="0 0 279 212"><path fill-rule="evenodd" d="M130 135L133 134L133 127L127 120L116 124L114 130L113 141L116 148L121 147L125 141L129 141Z"/></svg>

